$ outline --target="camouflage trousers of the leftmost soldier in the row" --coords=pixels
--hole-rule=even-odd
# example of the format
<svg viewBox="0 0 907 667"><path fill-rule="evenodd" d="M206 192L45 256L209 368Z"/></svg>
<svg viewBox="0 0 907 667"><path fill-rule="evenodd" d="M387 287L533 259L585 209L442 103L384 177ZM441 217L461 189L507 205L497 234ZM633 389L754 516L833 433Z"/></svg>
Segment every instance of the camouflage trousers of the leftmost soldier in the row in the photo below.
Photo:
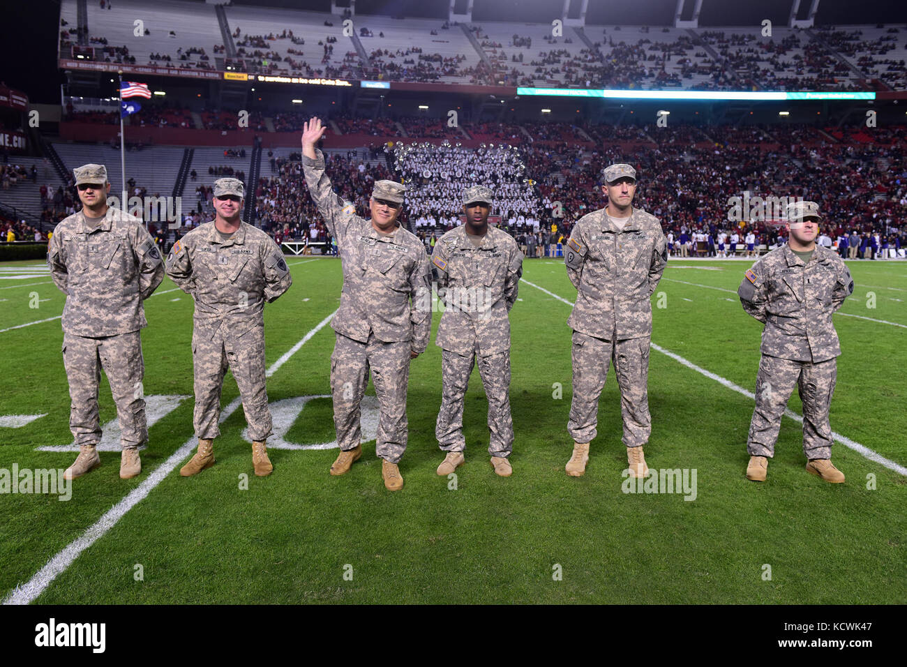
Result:
<svg viewBox="0 0 907 667"><path fill-rule="evenodd" d="M71 400L69 427L76 445L97 445L101 440L98 417L101 368L107 374L116 404L122 446L141 446L148 440L141 387L145 363L141 357L139 331L102 338L64 333L63 366L66 368Z"/></svg>

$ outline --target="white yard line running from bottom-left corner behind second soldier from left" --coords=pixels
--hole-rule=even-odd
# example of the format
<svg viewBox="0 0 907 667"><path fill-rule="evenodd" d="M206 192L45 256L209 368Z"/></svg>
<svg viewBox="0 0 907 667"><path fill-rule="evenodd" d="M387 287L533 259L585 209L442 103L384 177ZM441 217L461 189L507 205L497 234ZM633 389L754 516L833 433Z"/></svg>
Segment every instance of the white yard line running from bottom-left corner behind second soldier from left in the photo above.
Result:
<svg viewBox="0 0 907 667"><path fill-rule="evenodd" d="M293 354L295 354L309 338L312 338L312 336L322 329L335 314L336 310L328 315L327 318L322 319L315 329L309 331L302 340L290 348L288 353L279 358L271 368L268 368L268 376L272 375L288 358L292 357ZM240 405L242 405L241 399L239 397L235 398L229 406L225 407L220 413L219 423L222 424ZM116 525L117 522L132 509L132 507L146 498L151 491L154 490L155 486L161 484L164 478L170 475L176 466L180 465L180 462L192 453L192 450L195 449L196 442L195 436L190 437L179 449L171 454L161 466L158 466L151 475L142 480L141 484L136 486L129 495L126 495L119 503L113 505L112 508L105 512L100 519L88 528L88 530L74 539L73 542L67 544L66 547L63 548L63 551L54 555L53 558L47 561L47 564L38 570L28 582L16 586L15 589L10 591L6 595L3 603L28 604L34 602L38 595L44 593L44 589L46 589L57 576L63 574L63 572L73 564L75 559L79 557L79 554L82 554L85 549L97 542L105 533L107 533L107 531Z"/></svg>

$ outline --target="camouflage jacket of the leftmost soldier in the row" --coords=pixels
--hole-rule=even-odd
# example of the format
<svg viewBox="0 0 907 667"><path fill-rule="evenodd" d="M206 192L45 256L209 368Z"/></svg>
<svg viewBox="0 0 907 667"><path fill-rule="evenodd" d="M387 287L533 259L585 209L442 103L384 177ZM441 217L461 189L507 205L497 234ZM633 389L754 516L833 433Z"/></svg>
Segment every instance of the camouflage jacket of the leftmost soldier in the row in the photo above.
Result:
<svg viewBox="0 0 907 667"><path fill-rule="evenodd" d="M91 338L148 326L141 302L164 280L164 265L135 216L108 208L101 227L92 231L82 211L73 213L54 228L47 264L66 294L66 333Z"/></svg>

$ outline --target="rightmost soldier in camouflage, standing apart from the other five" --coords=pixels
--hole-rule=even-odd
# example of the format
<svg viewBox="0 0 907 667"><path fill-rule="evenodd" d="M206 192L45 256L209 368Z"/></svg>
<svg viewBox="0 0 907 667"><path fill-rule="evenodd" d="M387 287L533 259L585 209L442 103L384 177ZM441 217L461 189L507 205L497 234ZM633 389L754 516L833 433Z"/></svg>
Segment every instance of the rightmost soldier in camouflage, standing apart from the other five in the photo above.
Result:
<svg viewBox="0 0 907 667"><path fill-rule="evenodd" d="M831 462L828 419L841 354L832 314L853 294L853 279L844 260L815 243L822 220L818 204L792 202L786 218L788 244L758 260L737 290L744 310L766 325L746 438L746 476L766 480L767 459L775 456L781 416L796 386L803 401L806 470L841 483L844 474Z"/></svg>

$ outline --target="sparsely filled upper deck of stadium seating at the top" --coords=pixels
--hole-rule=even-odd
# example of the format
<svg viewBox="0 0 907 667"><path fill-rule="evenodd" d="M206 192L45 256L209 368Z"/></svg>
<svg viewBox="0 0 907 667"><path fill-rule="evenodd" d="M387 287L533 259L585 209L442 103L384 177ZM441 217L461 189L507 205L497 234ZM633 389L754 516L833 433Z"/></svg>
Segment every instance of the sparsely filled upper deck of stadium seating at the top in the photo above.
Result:
<svg viewBox="0 0 907 667"><path fill-rule="evenodd" d="M76 66L76 0L63 0L61 58ZM94 60L411 83L643 90L903 90L907 25L676 28L344 17L271 7L119 0L88 3ZM141 18L147 34L137 37ZM230 44L223 34L229 32ZM474 39L471 39L474 37ZM232 50L235 49L235 53ZM134 59L134 60L133 60ZM84 66L84 65L83 65Z"/></svg>

